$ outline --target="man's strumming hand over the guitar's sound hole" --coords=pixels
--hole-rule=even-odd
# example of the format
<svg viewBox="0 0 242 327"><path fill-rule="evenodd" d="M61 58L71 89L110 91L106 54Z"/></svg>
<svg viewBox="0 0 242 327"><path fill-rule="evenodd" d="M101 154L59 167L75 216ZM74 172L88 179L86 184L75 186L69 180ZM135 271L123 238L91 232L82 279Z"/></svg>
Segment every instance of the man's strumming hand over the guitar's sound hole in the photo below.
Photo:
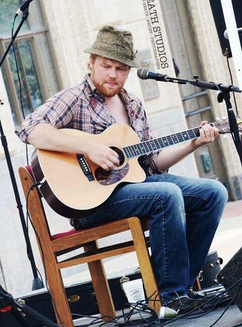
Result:
<svg viewBox="0 0 242 327"><path fill-rule="evenodd" d="M91 143L87 156L107 172L119 165L118 154L106 145Z"/></svg>

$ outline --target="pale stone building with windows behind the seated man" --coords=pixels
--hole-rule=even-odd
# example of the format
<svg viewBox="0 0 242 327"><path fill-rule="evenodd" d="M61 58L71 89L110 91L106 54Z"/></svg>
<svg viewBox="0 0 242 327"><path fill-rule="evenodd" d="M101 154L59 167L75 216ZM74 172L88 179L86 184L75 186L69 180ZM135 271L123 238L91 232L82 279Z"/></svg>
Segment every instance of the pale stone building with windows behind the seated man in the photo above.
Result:
<svg viewBox="0 0 242 327"><path fill-rule="evenodd" d="M11 40L12 22L20 3L19 0L3 0L0 4L1 56ZM148 4L154 5L149 13ZM203 0L202 5L199 0L34 0L29 12L15 42L24 115L57 91L82 81L88 62L83 49L90 46L97 31L106 24L130 30L141 66L156 70L154 43L147 20L153 18L160 32L156 39L160 43L157 44L164 47L162 51L165 53L160 63L162 60L168 63L159 69L160 73L175 76L175 62L180 78L199 75L201 80L230 84L209 0ZM234 72L232 60L230 65ZM202 120L212 122L215 117L226 116L225 105L217 103L214 91L191 85L141 81L136 72L136 69L131 69L126 89L142 99L157 136L199 126ZM0 71L0 98L4 102L0 106L0 118L18 180L17 169L26 165L27 159L25 145L14 133L23 120L23 113L13 50ZM236 95L236 100L241 107L240 95ZM29 158L32 150L28 146ZM242 170L230 136L227 139L219 136L213 144L177 163L170 173L218 179L228 188L231 200L242 197ZM21 294L31 289L32 272L3 147L0 147L0 182L0 284L14 294ZM21 187L19 190L25 207ZM46 210L52 232L69 228L66 218L57 216L48 207ZM43 272L34 234L32 230L29 233L36 264ZM120 237L126 239L128 236ZM111 242L112 239L105 241ZM85 269L81 266L66 269L63 276L75 282L79 272Z"/></svg>

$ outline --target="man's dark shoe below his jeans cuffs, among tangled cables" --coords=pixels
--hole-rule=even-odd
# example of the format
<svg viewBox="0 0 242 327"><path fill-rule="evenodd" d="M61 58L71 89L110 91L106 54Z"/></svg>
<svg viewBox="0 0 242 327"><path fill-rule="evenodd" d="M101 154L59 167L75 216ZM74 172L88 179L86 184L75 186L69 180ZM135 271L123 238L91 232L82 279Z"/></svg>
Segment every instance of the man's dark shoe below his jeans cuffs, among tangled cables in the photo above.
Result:
<svg viewBox="0 0 242 327"><path fill-rule="evenodd" d="M188 295L180 296L179 299L175 298L169 302L165 301L164 305L170 309L178 311L178 314L187 313L201 305L199 300L191 299Z"/></svg>

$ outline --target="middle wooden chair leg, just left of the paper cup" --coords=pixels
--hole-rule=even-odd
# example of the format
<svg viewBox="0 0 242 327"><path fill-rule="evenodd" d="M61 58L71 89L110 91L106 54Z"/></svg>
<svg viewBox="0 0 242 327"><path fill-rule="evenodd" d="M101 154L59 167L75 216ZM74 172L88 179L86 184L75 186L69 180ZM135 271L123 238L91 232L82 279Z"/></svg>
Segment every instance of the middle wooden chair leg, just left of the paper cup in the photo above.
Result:
<svg viewBox="0 0 242 327"><path fill-rule="evenodd" d="M97 250L97 241L86 243L84 251ZM95 291L98 307L101 316L109 315L116 316L115 308L112 301L110 288L107 282L106 273L103 267L102 260L96 260L88 263L88 268L92 278L92 285ZM103 321L110 321L110 318L103 318Z"/></svg>

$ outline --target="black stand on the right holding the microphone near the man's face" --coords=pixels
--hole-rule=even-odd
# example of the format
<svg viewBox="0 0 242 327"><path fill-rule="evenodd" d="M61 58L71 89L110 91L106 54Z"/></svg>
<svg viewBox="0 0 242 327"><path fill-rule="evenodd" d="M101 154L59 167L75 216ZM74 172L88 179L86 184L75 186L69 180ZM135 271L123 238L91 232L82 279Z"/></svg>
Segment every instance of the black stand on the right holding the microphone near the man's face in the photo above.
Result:
<svg viewBox="0 0 242 327"><path fill-rule="evenodd" d="M165 81L165 82L171 82L171 83L177 83L177 84L192 84L195 87L202 88L202 89L208 89L208 90L216 90L220 91L217 100L219 103L225 101L226 108L227 108L227 113L228 113L228 122L229 122L229 127L230 127L230 133L232 135L232 139L235 145L235 148L237 150L241 165L242 165L242 144L241 144L241 139L239 136L239 130L238 130L238 125L236 122L236 117L234 115L234 111L232 108L232 104L230 102L230 92L238 92L241 93L239 88L234 87L232 85L224 85L222 83L217 84L214 83L213 81L203 81L199 80L198 76L194 76L194 79L183 79L183 78L174 78L170 77L165 74L155 74L154 78L156 80L160 81Z"/></svg>

